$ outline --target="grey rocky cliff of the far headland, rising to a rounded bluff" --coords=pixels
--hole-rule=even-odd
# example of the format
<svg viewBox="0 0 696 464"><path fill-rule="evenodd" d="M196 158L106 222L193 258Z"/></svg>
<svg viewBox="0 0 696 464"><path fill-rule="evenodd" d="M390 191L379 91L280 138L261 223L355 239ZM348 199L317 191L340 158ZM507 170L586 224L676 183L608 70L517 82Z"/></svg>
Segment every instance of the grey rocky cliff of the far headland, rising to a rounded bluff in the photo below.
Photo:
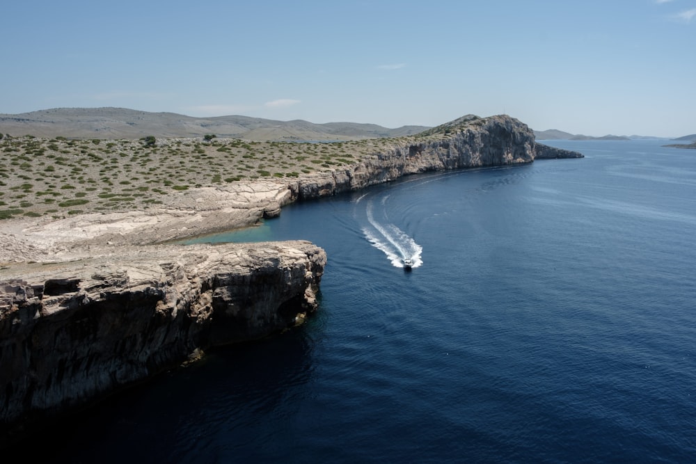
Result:
<svg viewBox="0 0 696 464"><path fill-rule="evenodd" d="M509 116L481 119L468 115L420 136L394 139L388 149L351 168L305 177L291 189L294 198L303 200L363 189L409 174L581 157L577 152L536 143L534 131Z"/></svg>

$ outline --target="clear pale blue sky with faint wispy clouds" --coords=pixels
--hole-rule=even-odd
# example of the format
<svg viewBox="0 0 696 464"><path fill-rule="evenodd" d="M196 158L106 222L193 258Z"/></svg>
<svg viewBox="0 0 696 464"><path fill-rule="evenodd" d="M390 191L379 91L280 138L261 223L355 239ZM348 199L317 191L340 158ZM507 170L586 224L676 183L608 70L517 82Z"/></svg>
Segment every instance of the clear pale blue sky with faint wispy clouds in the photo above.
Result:
<svg viewBox="0 0 696 464"><path fill-rule="evenodd" d="M696 133L696 0L9 0L0 113Z"/></svg>

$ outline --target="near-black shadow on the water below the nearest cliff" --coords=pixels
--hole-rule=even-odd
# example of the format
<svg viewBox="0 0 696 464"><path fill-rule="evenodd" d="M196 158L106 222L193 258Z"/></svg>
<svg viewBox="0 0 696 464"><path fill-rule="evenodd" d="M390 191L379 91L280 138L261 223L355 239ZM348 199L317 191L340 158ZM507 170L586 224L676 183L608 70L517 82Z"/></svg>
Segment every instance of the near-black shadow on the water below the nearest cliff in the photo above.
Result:
<svg viewBox="0 0 696 464"><path fill-rule="evenodd" d="M5 456L46 463L211 462L205 456L214 460L216 444L263 440L247 436L258 432L253 424L278 426L297 413L289 408L298 396L310 395L317 345L310 329L321 324L315 319L299 330L214 349L49 427L40 447L29 438Z"/></svg>

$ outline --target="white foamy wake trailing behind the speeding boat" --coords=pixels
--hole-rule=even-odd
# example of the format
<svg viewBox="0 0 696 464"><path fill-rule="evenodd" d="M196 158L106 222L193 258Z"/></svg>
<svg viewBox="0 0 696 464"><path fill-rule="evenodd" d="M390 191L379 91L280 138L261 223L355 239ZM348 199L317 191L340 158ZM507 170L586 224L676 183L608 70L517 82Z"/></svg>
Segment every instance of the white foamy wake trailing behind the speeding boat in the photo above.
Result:
<svg viewBox="0 0 696 464"><path fill-rule="evenodd" d="M387 198L383 198L382 205L385 204ZM389 223L386 213L383 212L384 221L378 221L374 217L372 200L367 200L366 203L367 224L363 226L365 239L372 243L372 246L381 250L393 266L404 267L404 260L411 259L413 262L411 267L420 267L423 264L422 259L420 259L420 253L423 250L422 246L418 245L413 238L409 237L399 227Z"/></svg>

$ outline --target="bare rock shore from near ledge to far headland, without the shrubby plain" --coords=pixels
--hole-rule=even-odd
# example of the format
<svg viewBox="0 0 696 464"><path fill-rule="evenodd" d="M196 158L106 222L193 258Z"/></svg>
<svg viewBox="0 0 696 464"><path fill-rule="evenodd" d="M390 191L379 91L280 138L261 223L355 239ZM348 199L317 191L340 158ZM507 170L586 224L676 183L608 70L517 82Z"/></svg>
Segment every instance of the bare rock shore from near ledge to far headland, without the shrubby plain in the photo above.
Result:
<svg viewBox="0 0 696 464"><path fill-rule="evenodd" d="M404 175L582 156L537 144L514 118L466 117L290 182L190 189L146 212L1 221L0 442L316 308L326 254L311 243L165 242L247 227L290 202Z"/></svg>

